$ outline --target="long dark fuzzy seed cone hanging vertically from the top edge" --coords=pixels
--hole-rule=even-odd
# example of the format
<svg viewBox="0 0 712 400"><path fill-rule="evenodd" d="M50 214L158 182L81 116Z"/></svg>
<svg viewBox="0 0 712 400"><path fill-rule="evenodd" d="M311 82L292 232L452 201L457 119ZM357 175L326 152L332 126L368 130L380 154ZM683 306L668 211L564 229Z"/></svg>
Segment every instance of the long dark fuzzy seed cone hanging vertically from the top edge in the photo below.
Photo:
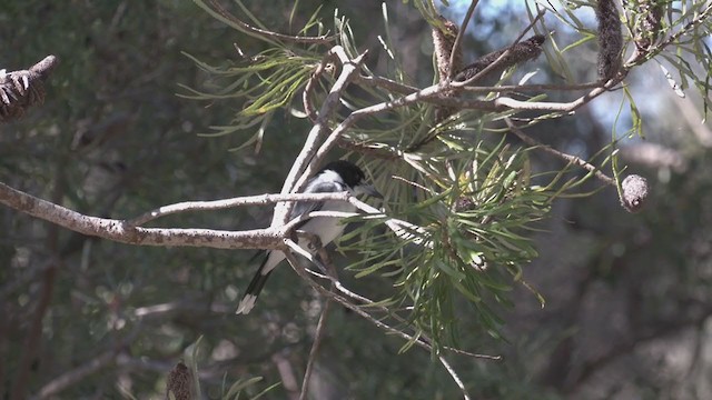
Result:
<svg viewBox="0 0 712 400"><path fill-rule="evenodd" d="M621 18L613 0L599 0L599 77L611 79L622 66L623 33Z"/></svg>

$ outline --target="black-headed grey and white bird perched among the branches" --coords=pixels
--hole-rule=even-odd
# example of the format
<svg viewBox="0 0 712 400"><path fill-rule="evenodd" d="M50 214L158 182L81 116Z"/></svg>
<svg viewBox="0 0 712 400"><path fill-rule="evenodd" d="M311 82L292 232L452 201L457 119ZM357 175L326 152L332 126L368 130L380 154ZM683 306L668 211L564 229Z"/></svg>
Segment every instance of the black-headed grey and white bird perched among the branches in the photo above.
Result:
<svg viewBox="0 0 712 400"><path fill-rule="evenodd" d="M368 194L370 197L383 199L376 188L366 182L366 176L358 166L350 161L337 160L327 163L322 170L319 170L313 178L307 181L304 193L337 193L347 191L352 196ZM356 212L356 207L347 201L342 200L325 200L325 201L298 201L289 214L289 220L299 218L303 214L313 211L340 211L340 212ZM305 221L299 222L296 230L309 232L318 236L322 241L322 246L327 246L336 238L338 238L344 231L344 224L337 218L333 217L314 217ZM309 240L306 238L299 238L299 247L314 252L309 249ZM239 306L237 307L237 314L247 314L255 307L257 297L265 287L267 279L274 271L275 267L279 264L285 254L280 250L266 251L265 259L259 266L259 269L255 273L255 277L250 281Z"/></svg>

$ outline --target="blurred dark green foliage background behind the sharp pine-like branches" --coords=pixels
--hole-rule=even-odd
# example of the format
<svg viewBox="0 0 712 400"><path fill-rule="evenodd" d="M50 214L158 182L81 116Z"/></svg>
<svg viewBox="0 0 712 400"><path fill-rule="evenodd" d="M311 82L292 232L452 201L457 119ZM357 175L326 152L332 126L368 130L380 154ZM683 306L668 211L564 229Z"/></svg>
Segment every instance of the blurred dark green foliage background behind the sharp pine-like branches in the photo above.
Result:
<svg viewBox="0 0 712 400"><path fill-rule="evenodd" d="M444 13L458 20L459 2L451 3ZM317 7L325 21L338 7L357 44L372 49L369 67L386 67L378 64L384 50L376 38L384 32L374 22L382 21L379 2L300 1L295 14L289 1L246 6L267 27L287 33L296 33ZM405 73L429 84L427 23L412 4L388 7ZM478 29L465 40L468 60L505 46L527 22L517 4L479 8L473 23ZM572 30L556 29L558 41L577 40ZM0 9L0 68L8 70L49 53L60 59L46 103L0 126L0 180L83 213L126 218L182 200L274 192L309 128L275 111L258 154L251 147L235 150L257 127L200 134L229 124L246 104L176 96L189 94L185 87L219 84L182 52L231 66L238 59L234 44L249 56L266 48L192 2L10 1ZM590 43L566 59L580 81L595 80L595 51ZM712 131L709 122L700 123L696 94L678 98L655 64L635 70L629 81L633 96L645 99L637 106L646 140L625 142L621 158L629 172L647 177L654 198L640 214L626 213L612 189L553 204L536 234L540 258L523 269L546 307L515 288L516 306L504 313L506 341L482 334L477 316L457 314L473 332L461 332L463 348L504 356L452 358L475 398L702 399L712 390L712 178L704 173ZM591 156L610 142L612 130L632 128L630 118L615 117L620 101L612 93L528 132ZM531 159L541 170L562 167L543 153L531 152ZM582 190L597 187L589 184ZM264 226L269 211L181 214L160 224L247 229ZM201 336L194 353L206 397L219 398L230 386L224 382L254 376L283 383L269 398L294 396L290 382L301 379L319 299L288 269L273 277L269 296L250 318L236 319L240 290L254 272L250 252L128 247L7 208L0 223L3 399L51 397L50 389L57 398L159 398L168 371L194 352ZM387 296L388 281L350 274L342 278L355 289ZM312 380L314 398L459 396L429 354L396 356L402 346L333 308ZM77 371L87 372L61 380Z"/></svg>

